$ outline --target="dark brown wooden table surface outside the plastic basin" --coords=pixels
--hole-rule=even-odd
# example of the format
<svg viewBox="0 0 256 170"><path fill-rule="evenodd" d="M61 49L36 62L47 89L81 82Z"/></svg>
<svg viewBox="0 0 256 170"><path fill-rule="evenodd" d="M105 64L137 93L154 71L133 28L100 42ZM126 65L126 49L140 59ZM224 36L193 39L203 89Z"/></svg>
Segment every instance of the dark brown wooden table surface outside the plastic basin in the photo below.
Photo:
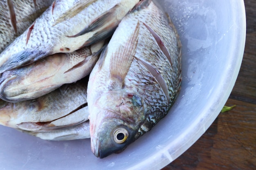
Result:
<svg viewBox="0 0 256 170"><path fill-rule="evenodd" d="M162 170L256 170L256 0L245 0L247 35L242 66L225 105L209 129Z"/></svg>

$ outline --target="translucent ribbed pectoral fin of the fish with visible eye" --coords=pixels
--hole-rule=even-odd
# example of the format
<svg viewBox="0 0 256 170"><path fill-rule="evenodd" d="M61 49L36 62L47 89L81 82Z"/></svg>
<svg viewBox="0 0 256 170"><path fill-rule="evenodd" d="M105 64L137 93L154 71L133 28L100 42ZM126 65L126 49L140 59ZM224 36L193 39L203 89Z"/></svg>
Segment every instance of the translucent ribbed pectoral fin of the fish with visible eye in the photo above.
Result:
<svg viewBox="0 0 256 170"><path fill-rule="evenodd" d="M124 81L126 74L134 59L139 39L139 21L135 31L130 35L124 45L120 45L117 51L112 54L110 59L110 78L117 78L120 82Z"/></svg>

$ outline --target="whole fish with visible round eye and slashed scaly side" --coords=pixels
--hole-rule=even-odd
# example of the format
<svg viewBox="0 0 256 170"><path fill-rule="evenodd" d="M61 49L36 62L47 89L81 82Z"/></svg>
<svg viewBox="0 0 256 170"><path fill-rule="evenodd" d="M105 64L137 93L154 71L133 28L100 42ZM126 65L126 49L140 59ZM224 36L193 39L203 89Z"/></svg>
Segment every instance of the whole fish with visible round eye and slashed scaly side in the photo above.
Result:
<svg viewBox="0 0 256 170"><path fill-rule="evenodd" d="M153 1L141 0L120 22L90 73L94 155L120 153L151 130L175 102L181 81L177 30Z"/></svg>

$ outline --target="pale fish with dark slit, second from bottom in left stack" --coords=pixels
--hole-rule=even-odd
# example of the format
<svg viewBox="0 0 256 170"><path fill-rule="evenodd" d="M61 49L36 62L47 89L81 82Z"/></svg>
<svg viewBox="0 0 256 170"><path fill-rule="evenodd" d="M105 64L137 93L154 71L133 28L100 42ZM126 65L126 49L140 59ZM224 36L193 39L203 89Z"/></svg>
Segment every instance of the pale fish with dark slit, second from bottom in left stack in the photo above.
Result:
<svg viewBox="0 0 256 170"><path fill-rule="evenodd" d="M65 84L33 100L0 100L0 125L31 132L64 130L88 120L86 81Z"/></svg>

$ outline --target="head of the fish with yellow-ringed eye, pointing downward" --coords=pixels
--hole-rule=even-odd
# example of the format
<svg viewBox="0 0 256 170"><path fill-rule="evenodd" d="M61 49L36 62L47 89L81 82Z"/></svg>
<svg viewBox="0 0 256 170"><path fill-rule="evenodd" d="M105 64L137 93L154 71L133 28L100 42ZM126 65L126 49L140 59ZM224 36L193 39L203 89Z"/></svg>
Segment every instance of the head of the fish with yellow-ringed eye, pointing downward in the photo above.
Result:
<svg viewBox="0 0 256 170"><path fill-rule="evenodd" d="M138 95L111 91L97 99L89 114L91 149L96 157L120 153L141 136L145 118Z"/></svg>

